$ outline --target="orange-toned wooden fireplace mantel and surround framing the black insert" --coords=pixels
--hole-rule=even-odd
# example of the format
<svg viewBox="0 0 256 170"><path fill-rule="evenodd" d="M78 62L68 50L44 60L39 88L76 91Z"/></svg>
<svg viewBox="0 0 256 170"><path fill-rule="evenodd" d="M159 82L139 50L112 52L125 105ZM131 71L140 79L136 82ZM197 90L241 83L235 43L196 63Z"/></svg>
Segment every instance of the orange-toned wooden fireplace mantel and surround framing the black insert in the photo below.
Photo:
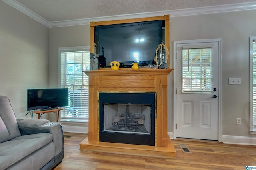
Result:
<svg viewBox="0 0 256 170"><path fill-rule="evenodd" d="M89 76L89 130L88 139L80 143L80 149L94 150L106 149L108 145L113 144L99 141L99 111L98 111L98 92L99 91L117 91L117 92L156 92L156 118L155 118L155 146L145 146L148 148L158 147L158 150L170 148L174 150L174 157L176 150L170 141L167 134L167 76L173 69L120 69L120 70L90 70L84 71ZM116 144L122 147L128 144ZM142 145L129 145L132 148L143 148ZM94 148L94 149L92 149ZM110 149L112 150L112 149ZM161 151L162 152L162 151ZM169 152L169 151L168 151ZM127 154L127 153L126 153ZM169 153L168 153L169 154ZM173 154L172 154L173 156ZM167 156L168 157L168 156Z"/></svg>

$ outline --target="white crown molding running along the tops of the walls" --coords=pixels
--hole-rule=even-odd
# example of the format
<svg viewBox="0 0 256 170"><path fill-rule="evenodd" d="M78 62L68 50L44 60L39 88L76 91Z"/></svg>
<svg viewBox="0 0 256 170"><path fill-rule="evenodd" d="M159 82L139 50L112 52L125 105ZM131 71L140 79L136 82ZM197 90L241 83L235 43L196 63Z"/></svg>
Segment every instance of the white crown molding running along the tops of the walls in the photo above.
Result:
<svg viewBox="0 0 256 170"><path fill-rule="evenodd" d="M18 3L16 0L2 0L9 4L10 6L16 8L20 12L30 16L34 20L46 25L47 27L67 27L75 25L87 25L91 21L110 21L110 20L123 20L131 18L143 18L143 17L152 17L152 16L163 16L170 15L170 18L180 17L180 16L193 16L193 15L202 15L202 14L214 14L214 13L225 13L225 12L237 12L237 11L246 11L246 10L256 10L256 2L245 2L238 4L227 4L227 5L218 5L218 6L207 6L199 8L187 8L180 10L166 10L166 11L157 11L157 12L145 12L145 13L136 13L136 14L126 14L126 15L117 15L117 16L104 16L104 17L95 17L95 18L84 18L77 20L66 20L66 21L54 21L49 22L29 10L22 4Z"/></svg>

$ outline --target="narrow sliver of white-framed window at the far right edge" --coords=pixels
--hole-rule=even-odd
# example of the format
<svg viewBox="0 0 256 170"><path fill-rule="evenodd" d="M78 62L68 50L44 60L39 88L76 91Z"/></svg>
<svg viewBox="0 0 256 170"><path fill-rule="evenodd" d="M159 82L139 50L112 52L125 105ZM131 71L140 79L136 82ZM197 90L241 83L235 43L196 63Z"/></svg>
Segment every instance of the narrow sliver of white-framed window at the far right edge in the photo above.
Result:
<svg viewBox="0 0 256 170"><path fill-rule="evenodd" d="M256 134L256 36L250 37L250 131Z"/></svg>

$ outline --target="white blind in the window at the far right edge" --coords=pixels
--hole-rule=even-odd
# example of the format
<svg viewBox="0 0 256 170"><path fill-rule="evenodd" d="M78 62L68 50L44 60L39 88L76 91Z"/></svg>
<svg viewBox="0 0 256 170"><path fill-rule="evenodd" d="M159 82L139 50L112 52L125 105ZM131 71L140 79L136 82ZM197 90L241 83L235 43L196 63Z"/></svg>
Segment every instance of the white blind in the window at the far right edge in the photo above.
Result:
<svg viewBox="0 0 256 170"><path fill-rule="evenodd" d="M256 131L256 37L251 39L251 62L252 62L252 127L251 131Z"/></svg>

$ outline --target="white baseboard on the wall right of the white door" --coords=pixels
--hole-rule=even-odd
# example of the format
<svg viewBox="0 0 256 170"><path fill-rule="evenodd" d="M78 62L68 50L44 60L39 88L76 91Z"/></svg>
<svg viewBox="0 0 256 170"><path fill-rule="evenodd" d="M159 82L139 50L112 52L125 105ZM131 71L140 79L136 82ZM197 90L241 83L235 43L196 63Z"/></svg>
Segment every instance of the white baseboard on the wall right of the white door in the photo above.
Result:
<svg viewBox="0 0 256 170"><path fill-rule="evenodd" d="M256 145L256 137L223 135L222 142L237 145Z"/></svg>

